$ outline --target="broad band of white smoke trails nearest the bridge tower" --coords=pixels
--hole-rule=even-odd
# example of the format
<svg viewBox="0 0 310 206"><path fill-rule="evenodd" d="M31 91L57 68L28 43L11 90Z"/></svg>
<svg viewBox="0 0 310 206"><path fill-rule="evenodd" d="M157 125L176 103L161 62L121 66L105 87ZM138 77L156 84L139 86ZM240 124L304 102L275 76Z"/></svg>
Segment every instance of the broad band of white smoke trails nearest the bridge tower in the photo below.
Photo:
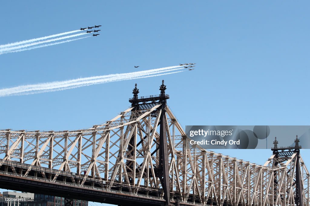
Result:
<svg viewBox="0 0 310 206"><path fill-rule="evenodd" d="M174 70L184 69L180 66L170 66L159 69L149 69L139 72L122 73L122 74L110 74L104 76L95 76L89 78L78 78L73 80L61 81L61 82L47 82L33 85L16 86L6 89L0 89L0 97L11 95L29 95L43 92L59 91L66 89L73 89L81 86L89 86L94 84L103 84L107 82L116 82L129 79L148 78L166 74L174 74L183 71L170 72ZM170 72L170 73L166 73Z"/></svg>

